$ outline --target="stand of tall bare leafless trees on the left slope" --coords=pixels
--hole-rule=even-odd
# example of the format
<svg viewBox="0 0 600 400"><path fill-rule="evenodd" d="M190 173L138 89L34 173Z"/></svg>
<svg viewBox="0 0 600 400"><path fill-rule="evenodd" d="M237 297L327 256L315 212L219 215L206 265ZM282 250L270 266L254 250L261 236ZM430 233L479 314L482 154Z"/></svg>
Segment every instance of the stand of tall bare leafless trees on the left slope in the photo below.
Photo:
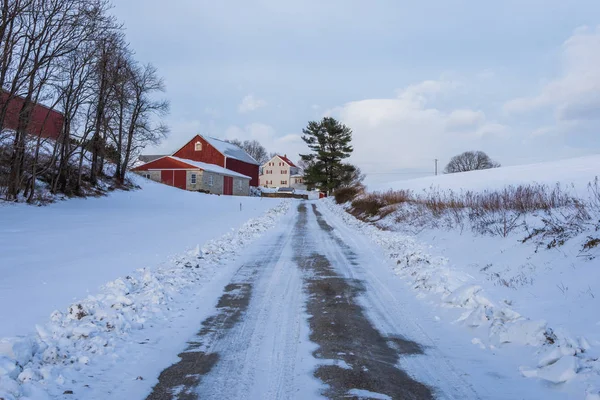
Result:
<svg viewBox="0 0 600 400"><path fill-rule="evenodd" d="M31 201L41 177L53 193L79 194L98 183L107 161L123 183L140 150L168 133L156 69L135 60L107 0L0 0L0 7L0 126L11 102L20 104L17 129L0 135L0 196ZM64 114L56 142L27 134L35 103Z"/></svg>

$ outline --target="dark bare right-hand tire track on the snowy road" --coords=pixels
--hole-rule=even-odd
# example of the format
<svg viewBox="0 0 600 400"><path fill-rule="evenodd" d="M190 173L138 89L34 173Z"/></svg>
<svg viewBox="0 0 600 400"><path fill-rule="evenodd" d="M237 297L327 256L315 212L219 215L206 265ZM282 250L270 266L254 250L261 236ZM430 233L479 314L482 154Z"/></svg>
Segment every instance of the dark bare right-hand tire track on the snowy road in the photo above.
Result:
<svg viewBox="0 0 600 400"><path fill-rule="evenodd" d="M332 264L340 260L328 259L324 254L332 250L314 235L313 229L331 233L332 228L315 208L316 219L310 222L305 204L298 211L295 235L312 239L294 249L305 274L310 340L319 346L313 355L323 361L314 375L328 385L324 394L332 399L432 399L429 387L397 368L401 355L420 354L421 347L401 337L385 337L371 324L357 299L365 291L363 282L340 275L343 268ZM343 243L336 245L348 253ZM348 258L346 262L356 257L348 253Z"/></svg>

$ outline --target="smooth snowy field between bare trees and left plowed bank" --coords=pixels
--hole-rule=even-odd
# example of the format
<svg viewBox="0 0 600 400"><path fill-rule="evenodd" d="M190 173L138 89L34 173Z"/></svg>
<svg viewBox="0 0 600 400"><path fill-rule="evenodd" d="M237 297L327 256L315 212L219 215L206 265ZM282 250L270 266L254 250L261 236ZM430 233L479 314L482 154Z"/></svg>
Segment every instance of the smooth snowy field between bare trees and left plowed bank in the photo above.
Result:
<svg viewBox="0 0 600 400"><path fill-rule="evenodd" d="M142 190L108 197L45 207L0 204L0 337L27 334L100 285L154 267L278 204L136 180Z"/></svg>

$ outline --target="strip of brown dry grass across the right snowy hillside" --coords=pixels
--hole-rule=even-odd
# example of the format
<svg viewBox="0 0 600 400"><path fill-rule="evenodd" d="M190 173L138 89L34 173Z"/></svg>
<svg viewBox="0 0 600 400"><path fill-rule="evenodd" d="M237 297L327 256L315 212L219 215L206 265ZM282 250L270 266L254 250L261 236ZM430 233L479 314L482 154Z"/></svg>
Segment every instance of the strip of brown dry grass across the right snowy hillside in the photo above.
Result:
<svg viewBox="0 0 600 400"><path fill-rule="evenodd" d="M410 190L357 193L350 212L364 220L393 214L394 221L413 230L425 228L470 228L484 235L507 237L515 230L546 247L561 246L589 228L595 221L600 230L600 183L590 183L590 201L582 201L560 185L507 186L482 192L431 188L420 194ZM344 200L348 200L347 197ZM346 202L345 201L345 202ZM528 215L535 214L540 226L529 227ZM530 220L529 220L530 221ZM587 244L587 248L597 245Z"/></svg>

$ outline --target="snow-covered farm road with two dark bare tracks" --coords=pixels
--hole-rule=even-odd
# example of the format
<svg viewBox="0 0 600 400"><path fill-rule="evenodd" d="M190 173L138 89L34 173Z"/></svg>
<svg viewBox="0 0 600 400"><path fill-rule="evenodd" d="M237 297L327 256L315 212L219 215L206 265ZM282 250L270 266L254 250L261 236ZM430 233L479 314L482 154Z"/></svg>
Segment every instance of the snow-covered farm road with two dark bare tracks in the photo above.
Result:
<svg viewBox="0 0 600 400"><path fill-rule="evenodd" d="M326 207L290 213L237 261L148 399L564 398L441 325Z"/></svg>

